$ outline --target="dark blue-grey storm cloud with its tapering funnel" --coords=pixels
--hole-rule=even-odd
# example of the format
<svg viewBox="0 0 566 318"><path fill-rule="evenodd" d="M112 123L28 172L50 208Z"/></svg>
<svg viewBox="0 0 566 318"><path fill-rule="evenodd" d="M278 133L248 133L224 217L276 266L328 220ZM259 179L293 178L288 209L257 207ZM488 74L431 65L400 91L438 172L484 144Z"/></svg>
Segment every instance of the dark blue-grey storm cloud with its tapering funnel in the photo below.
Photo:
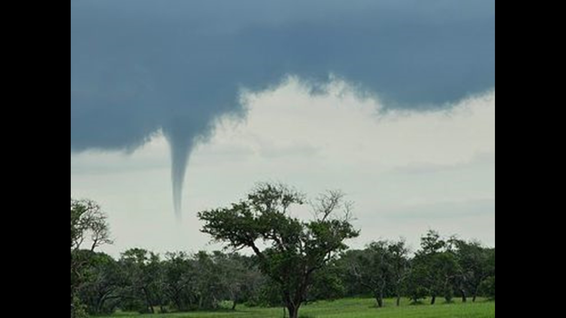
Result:
<svg viewBox="0 0 566 318"><path fill-rule="evenodd" d="M495 88L495 2L71 2L71 152L133 151L162 131L175 213L191 149L242 89L330 74L385 109L422 111Z"/></svg>

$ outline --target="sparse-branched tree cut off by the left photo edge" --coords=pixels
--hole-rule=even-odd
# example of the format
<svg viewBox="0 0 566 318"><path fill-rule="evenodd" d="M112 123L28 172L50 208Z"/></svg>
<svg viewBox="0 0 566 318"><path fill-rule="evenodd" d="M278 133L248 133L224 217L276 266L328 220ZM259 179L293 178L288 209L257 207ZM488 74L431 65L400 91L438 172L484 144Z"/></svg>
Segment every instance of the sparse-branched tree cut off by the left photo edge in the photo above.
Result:
<svg viewBox="0 0 566 318"><path fill-rule="evenodd" d="M91 253L80 252L87 241ZM71 316L75 315L76 290L83 282L83 271L89 263L87 256L102 244L112 244L106 214L95 201L71 197Z"/></svg>

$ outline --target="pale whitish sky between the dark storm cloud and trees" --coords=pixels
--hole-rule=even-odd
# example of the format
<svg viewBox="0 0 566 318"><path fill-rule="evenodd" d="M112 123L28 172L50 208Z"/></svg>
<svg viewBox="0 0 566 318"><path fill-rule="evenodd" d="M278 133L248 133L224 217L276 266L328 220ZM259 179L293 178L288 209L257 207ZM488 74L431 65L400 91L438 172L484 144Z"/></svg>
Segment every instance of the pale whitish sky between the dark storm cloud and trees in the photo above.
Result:
<svg viewBox="0 0 566 318"><path fill-rule="evenodd" d="M360 100L340 81L327 96L310 96L291 78L243 98L246 120L219 121L212 139L192 153L182 224L174 221L162 136L132 156L71 155L71 195L101 201L110 213L117 239L108 251L212 248L196 212L229 204L258 181L282 181L312 196L344 190L362 229L354 246L398 235L417 244L424 227L495 244L495 212L481 214L484 205L477 204L495 200L495 91L449 111L407 114L382 114L378 101ZM426 225L422 218L391 218L447 202L453 217L449 209L441 217L431 213Z"/></svg>

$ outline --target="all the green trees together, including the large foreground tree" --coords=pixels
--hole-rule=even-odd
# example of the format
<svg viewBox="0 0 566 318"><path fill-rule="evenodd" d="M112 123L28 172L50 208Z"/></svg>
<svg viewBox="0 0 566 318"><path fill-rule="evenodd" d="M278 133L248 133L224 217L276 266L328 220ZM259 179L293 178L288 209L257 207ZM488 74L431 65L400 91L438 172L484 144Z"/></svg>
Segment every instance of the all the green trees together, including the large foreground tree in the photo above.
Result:
<svg viewBox="0 0 566 318"><path fill-rule="evenodd" d="M286 188L259 190L264 192L255 195L264 197L251 196L231 208L200 214L209 226L203 231L228 239L231 247L254 251L250 242L271 240L273 244L264 244L263 249L255 246L259 253L253 255L229 251L159 255L130 248L114 259L96 251L101 244L112 243L100 207L71 199L71 315L112 313L117 308L213 310L228 302L233 309L246 304L284 306L289 311L294 310L290 301L300 305L359 295L371 295L377 307L384 306L384 298L401 296L431 304L437 298L495 299L495 248L428 231L417 251L409 251L404 240L379 240L363 250L347 250L342 240L357 232L347 217L328 212L345 207L338 192L320 197L313 204L318 212L315 220L305 222L286 214L290 203L302 202L303 197L285 192ZM265 200L276 204L266 205ZM222 218L232 224L222 226ZM220 232L230 227L239 231ZM242 239L249 235L255 235L252 241Z"/></svg>

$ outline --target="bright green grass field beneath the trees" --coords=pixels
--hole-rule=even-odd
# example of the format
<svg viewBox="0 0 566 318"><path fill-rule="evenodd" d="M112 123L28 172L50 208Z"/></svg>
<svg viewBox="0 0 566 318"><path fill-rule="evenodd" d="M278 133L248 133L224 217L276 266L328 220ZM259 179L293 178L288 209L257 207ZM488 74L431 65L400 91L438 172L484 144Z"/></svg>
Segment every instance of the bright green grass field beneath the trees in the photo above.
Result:
<svg viewBox="0 0 566 318"><path fill-rule="evenodd" d="M395 300L386 299L383 308L375 307L375 300L371 298L344 298L332 302L322 301L301 306L299 317L305 318L487 318L495 317L495 301L478 299L475 303L468 300L461 303L455 299L454 303L444 303L444 299L437 298L436 304L410 305L408 299L403 299L401 306L395 306ZM111 317L143 317L143 318L225 318L225 317L261 317L281 318L283 308L246 307L239 305L235 311L198 311L185 313L156 313L153 315L140 315L139 313L117 312Z"/></svg>

